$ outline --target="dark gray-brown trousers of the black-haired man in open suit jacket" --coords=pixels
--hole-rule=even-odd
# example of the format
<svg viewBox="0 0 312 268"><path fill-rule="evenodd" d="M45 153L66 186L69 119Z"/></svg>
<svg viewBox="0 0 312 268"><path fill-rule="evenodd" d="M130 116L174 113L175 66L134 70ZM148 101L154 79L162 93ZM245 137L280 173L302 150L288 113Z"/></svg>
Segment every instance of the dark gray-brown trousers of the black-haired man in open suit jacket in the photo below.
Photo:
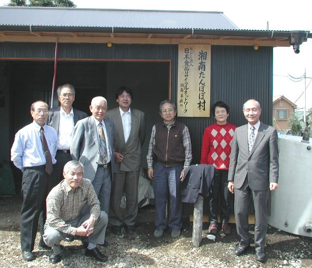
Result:
<svg viewBox="0 0 312 268"><path fill-rule="evenodd" d="M137 218L137 186L140 171L115 172L111 192L109 222L112 225L133 226ZM122 192L126 193L126 209L120 209Z"/></svg>

